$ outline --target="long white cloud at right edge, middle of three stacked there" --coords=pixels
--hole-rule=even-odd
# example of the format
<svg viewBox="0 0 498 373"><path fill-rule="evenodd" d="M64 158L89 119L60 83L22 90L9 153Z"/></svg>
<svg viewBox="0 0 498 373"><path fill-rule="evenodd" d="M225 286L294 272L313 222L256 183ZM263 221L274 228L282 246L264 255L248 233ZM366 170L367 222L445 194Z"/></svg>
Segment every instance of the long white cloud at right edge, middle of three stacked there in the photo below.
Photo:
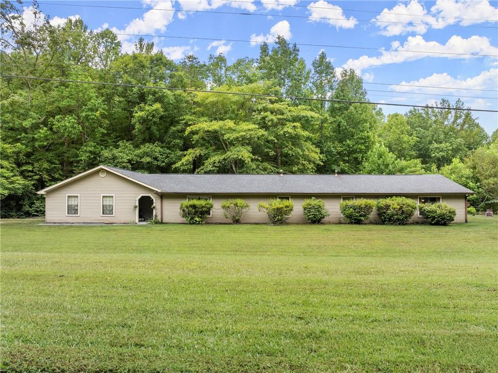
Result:
<svg viewBox="0 0 498 373"><path fill-rule="evenodd" d="M350 59L342 67L355 69L361 74L363 69L369 67L415 61L424 57L474 58L468 55L434 54L430 52L471 53L475 56L479 56L480 54L498 54L498 48L491 45L490 39L485 36L471 36L464 39L461 36L453 35L446 44L440 44L437 41L425 41L420 35L409 36L403 45L399 41L393 41L391 49L395 50L382 50L382 54L376 57L363 55L357 59ZM410 50L427 51L428 53L410 52Z"/></svg>

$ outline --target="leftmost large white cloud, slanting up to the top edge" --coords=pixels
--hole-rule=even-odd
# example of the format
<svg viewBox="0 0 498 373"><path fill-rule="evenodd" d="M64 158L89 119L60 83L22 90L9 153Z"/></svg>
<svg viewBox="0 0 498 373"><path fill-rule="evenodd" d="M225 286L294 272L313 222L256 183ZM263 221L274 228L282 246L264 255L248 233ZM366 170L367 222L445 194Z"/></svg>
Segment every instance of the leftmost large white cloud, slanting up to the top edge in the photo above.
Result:
<svg viewBox="0 0 498 373"><path fill-rule="evenodd" d="M167 1L144 1L145 4L151 4L154 9L173 9L173 4L170 0ZM140 18L131 20L124 29L113 27L112 30L116 33L124 34L151 34L159 30L166 31L166 26L173 21L172 11L147 10ZM132 35L118 35L118 38L123 41L133 38Z"/></svg>

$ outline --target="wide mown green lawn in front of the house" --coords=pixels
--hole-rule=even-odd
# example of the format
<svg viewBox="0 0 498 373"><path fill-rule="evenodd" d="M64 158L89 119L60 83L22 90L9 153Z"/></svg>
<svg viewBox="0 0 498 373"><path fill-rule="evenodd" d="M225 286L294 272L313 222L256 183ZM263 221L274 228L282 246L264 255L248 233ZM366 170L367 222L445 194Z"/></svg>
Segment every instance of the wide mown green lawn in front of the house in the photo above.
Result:
<svg viewBox="0 0 498 373"><path fill-rule="evenodd" d="M497 372L498 219L1 224L9 372Z"/></svg>

